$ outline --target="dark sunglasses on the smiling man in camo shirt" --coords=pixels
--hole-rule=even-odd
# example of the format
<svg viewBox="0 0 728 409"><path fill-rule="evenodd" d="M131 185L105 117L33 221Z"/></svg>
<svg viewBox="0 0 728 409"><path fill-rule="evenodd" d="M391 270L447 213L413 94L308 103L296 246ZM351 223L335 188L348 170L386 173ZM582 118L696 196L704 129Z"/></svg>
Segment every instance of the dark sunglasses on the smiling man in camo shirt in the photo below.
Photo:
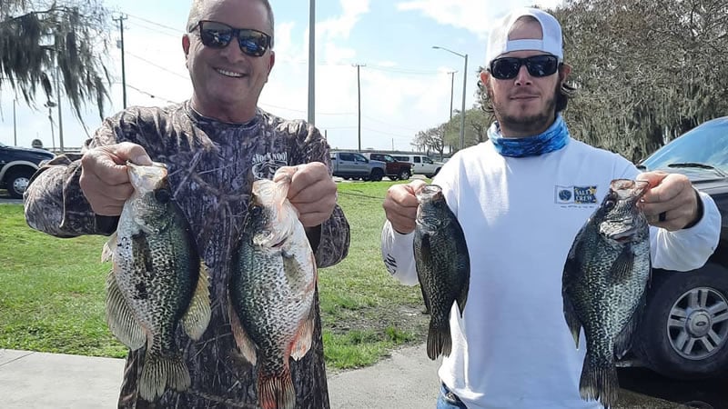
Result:
<svg viewBox="0 0 728 409"><path fill-rule="evenodd" d="M217 21L202 20L189 29L192 33L199 28L202 44L210 48L225 48L233 37L238 37L240 51L245 55L262 56L271 45L270 35L252 28L233 28Z"/></svg>

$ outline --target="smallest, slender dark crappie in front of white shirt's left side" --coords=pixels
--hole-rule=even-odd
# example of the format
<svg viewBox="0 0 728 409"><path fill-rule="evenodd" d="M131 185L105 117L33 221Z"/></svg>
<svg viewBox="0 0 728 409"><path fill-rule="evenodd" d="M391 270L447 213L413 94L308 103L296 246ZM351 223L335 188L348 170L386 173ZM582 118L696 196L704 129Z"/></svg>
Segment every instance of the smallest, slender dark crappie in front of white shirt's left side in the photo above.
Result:
<svg viewBox="0 0 728 409"><path fill-rule="evenodd" d="M445 202L438 185L426 185L417 194L420 205L414 237L415 266L425 307L430 314L427 355L450 355L450 309L458 303L465 311L470 288L470 255L462 227Z"/></svg>

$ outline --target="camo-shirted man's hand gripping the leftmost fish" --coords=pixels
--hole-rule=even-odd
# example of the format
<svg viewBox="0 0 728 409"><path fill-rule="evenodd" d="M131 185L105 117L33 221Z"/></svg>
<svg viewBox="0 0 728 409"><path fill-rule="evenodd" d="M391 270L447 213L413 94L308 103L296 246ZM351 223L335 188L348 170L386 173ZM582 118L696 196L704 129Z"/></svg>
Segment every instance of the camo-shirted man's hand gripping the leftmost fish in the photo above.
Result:
<svg viewBox="0 0 728 409"><path fill-rule="evenodd" d="M126 171L126 161L152 165L140 145L122 142L93 148L81 157L81 190L98 215L121 214L126 199L134 192Z"/></svg>

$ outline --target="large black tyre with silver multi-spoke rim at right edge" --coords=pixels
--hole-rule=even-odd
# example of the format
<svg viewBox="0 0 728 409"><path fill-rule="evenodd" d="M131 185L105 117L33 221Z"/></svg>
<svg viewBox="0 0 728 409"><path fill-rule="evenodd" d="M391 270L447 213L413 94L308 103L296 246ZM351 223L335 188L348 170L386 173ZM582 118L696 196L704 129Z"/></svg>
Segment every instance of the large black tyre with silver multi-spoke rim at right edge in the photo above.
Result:
<svg viewBox="0 0 728 409"><path fill-rule="evenodd" d="M728 368L728 269L713 263L692 272L655 269L637 354L655 372L704 378Z"/></svg>

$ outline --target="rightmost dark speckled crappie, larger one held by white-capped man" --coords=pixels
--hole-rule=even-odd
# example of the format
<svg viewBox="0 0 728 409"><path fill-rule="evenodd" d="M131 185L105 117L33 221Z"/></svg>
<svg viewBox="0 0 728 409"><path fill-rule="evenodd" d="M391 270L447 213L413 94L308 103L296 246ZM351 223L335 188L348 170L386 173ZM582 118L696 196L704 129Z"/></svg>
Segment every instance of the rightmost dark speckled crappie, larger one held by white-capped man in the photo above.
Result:
<svg viewBox="0 0 728 409"><path fill-rule="evenodd" d="M576 235L562 277L563 313L586 356L579 391L584 400L616 404L614 356L631 344L650 278L650 228L637 203L647 182L613 180L609 193Z"/></svg>

